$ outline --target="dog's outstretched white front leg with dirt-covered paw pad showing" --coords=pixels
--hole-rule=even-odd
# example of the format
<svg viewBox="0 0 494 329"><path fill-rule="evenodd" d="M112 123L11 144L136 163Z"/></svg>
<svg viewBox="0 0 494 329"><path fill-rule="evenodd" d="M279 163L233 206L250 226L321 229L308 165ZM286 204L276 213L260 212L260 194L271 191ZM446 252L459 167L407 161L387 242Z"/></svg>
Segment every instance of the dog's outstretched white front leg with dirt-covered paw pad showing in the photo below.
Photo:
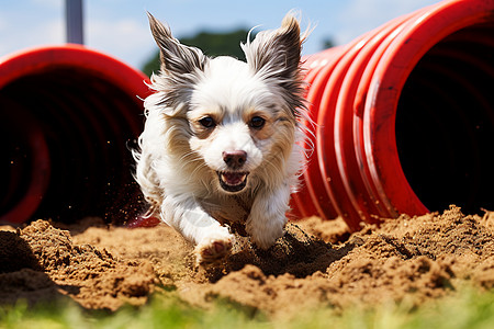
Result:
<svg viewBox="0 0 494 329"><path fill-rule="evenodd" d="M198 263L226 257L234 241L228 229L211 217L193 198L167 196L161 205L165 223L195 245Z"/></svg>

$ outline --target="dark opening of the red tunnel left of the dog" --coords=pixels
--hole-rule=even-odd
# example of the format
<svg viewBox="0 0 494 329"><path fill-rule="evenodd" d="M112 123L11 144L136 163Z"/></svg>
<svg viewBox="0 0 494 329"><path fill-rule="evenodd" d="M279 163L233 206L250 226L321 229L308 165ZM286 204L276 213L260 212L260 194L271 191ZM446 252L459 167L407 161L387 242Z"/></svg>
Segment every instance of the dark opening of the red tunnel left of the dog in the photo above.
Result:
<svg viewBox="0 0 494 329"><path fill-rule="evenodd" d="M63 67L3 87L0 106L10 112L0 124L8 140L0 161L0 217L30 204L27 190L40 175L32 218L122 223L141 212L128 149L142 131L137 97L90 71Z"/></svg>

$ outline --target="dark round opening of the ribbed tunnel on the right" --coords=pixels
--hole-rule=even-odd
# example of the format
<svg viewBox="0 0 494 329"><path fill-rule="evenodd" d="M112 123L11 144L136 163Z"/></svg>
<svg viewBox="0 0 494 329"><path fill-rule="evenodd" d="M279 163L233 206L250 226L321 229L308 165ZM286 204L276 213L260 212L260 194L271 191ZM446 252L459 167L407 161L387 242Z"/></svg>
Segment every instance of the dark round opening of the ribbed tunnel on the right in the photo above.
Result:
<svg viewBox="0 0 494 329"><path fill-rule="evenodd" d="M397 106L405 177L429 211L494 209L494 25L460 30L409 75Z"/></svg>

